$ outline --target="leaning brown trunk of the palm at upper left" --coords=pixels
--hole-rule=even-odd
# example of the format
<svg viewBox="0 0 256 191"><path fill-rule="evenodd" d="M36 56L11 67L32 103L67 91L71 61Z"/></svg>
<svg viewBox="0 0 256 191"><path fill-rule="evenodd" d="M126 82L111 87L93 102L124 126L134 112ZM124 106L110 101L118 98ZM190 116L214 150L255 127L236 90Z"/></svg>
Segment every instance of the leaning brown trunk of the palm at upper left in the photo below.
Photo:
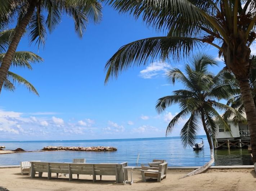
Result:
<svg viewBox="0 0 256 191"><path fill-rule="evenodd" d="M10 43L9 48L3 58L3 62L0 66L0 93L4 84L4 80L12 64L12 59L14 57L19 41L21 40L21 37L24 34L28 23L30 22L30 19L35 10L36 4L37 4L37 0L31 0L30 6L28 8L26 15L24 15L24 17L17 23L17 26L15 28L15 33L12 38L12 42Z"/></svg>

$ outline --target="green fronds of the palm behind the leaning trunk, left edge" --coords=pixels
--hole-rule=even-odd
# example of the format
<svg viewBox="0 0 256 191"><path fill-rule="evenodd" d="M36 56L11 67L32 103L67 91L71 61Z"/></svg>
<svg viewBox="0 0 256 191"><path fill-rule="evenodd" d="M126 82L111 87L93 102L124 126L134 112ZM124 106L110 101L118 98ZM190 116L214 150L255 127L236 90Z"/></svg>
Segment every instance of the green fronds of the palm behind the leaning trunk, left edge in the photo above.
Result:
<svg viewBox="0 0 256 191"><path fill-rule="evenodd" d="M3 52L8 47L8 43L10 42L9 40L12 38L13 32L14 29L3 30L0 32L0 65L2 64L3 58L5 56L5 53ZM32 70L30 62L41 62L42 60L43 59L41 57L32 52L18 51L14 54L12 66L19 68L28 68L29 70ZM37 90L30 82L28 82L23 77L17 75L16 73L8 71L3 84L4 89L14 91L15 84L24 85L29 91L32 91L34 94L39 96Z"/></svg>

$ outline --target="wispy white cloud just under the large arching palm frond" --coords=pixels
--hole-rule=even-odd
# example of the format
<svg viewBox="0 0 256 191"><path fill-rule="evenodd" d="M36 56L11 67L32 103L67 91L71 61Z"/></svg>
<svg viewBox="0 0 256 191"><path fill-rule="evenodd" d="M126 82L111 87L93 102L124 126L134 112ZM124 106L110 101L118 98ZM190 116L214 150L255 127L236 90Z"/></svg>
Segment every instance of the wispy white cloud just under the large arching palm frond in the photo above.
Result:
<svg viewBox="0 0 256 191"><path fill-rule="evenodd" d="M167 63L153 62L151 66L147 66L146 69L140 71L139 76L145 79L150 79L157 75L164 75L171 65Z"/></svg>

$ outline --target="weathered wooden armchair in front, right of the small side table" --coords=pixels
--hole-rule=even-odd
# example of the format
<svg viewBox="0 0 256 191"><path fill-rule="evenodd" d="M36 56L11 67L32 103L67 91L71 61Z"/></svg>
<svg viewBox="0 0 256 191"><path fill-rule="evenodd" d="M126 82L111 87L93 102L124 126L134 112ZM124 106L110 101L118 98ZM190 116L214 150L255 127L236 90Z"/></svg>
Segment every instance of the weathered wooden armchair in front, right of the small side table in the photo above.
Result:
<svg viewBox="0 0 256 191"><path fill-rule="evenodd" d="M159 164L158 167L142 166L140 172L144 182L147 181L147 178L157 179L157 182L161 182L161 179L166 178L167 162Z"/></svg>

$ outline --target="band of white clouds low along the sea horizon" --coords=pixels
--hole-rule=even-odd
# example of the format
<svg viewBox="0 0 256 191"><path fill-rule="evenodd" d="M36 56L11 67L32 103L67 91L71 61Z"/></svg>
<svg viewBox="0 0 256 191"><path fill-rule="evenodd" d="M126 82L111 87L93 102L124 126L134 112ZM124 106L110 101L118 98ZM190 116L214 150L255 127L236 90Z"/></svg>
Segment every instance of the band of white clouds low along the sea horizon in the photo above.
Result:
<svg viewBox="0 0 256 191"><path fill-rule="evenodd" d="M51 114L55 115L52 116ZM164 137L166 126L174 116L171 112L166 112L150 118L149 116L142 115L134 120L136 122L125 121L116 123L111 120L95 121L89 118L64 120L56 116L56 113L31 115L31 113L1 109L0 139L69 140ZM181 126L184 123L185 121L181 121L171 136L179 136Z"/></svg>

